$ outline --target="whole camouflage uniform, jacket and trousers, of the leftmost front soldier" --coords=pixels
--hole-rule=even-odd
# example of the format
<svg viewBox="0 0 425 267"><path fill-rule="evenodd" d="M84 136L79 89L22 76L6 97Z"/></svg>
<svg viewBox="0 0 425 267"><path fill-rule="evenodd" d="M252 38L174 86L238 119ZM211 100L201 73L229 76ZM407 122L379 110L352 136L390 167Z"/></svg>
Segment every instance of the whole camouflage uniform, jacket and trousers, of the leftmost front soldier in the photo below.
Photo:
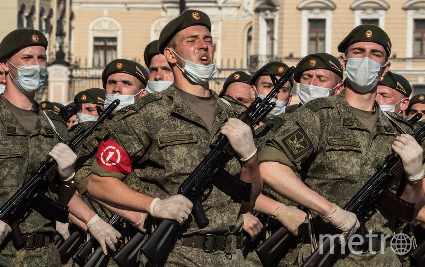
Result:
<svg viewBox="0 0 425 267"><path fill-rule="evenodd" d="M53 112L46 113L55 125L58 133L66 137L67 127L62 119ZM59 139L46 115L39 109L39 119L32 132L23 128L12 111L0 96L0 127L1 149L1 184L0 205L3 205L20 187L31 177L39 164L46 159L47 154L59 143ZM57 182L50 184L50 189L57 189ZM20 223L22 234L38 233L52 237L54 222L43 218L39 213L33 212ZM36 248L35 250L16 250L9 236L0 246L0 266L60 266L60 256L53 244Z"/></svg>

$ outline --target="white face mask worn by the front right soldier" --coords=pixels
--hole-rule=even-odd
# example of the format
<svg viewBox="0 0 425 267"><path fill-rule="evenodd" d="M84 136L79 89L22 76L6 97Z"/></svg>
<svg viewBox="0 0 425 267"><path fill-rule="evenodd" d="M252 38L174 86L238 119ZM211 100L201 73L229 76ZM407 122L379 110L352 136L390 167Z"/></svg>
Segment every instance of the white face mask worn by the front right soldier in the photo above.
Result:
<svg viewBox="0 0 425 267"><path fill-rule="evenodd" d="M381 66L369 57L348 58L345 74L356 91L366 93L376 87L379 81L379 70L385 66L386 64Z"/></svg>

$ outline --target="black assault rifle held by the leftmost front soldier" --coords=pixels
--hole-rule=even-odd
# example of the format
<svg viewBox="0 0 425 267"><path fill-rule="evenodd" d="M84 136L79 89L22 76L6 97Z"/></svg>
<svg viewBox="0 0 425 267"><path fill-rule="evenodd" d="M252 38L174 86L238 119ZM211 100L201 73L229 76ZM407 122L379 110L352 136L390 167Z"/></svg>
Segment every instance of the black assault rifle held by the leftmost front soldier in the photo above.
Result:
<svg viewBox="0 0 425 267"><path fill-rule="evenodd" d="M64 143L75 151L118 105L119 100L112 102L90 128L87 130L80 128ZM59 138L61 139L60 136ZM49 156L40 164L32 177L0 208L0 220L12 228L11 236L15 247L20 248L25 244L19 229L19 223L25 221L33 209L49 220L57 220L62 223L68 221L69 207L59 205L45 195L48 189L48 182L53 181L57 172L57 163Z"/></svg>

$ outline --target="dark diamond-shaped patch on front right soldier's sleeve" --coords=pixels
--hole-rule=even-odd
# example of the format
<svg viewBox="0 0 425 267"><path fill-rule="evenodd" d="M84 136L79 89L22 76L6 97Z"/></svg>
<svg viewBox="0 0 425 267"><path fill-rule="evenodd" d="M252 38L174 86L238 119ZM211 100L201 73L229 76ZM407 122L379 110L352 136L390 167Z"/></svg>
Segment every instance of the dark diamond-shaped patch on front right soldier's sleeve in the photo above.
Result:
<svg viewBox="0 0 425 267"><path fill-rule="evenodd" d="M285 150L290 153L293 159L297 159L313 148L309 137L301 128L285 135L281 139L280 144L286 148Z"/></svg>

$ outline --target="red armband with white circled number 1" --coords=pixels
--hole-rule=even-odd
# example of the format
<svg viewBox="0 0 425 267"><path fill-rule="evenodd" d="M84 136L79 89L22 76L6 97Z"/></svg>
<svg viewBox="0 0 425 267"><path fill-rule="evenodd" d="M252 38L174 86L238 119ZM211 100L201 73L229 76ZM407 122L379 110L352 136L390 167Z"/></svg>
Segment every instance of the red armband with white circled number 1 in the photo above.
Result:
<svg viewBox="0 0 425 267"><path fill-rule="evenodd" d="M128 175L131 173L133 159L127 151L109 139L99 144L96 162L108 171Z"/></svg>

